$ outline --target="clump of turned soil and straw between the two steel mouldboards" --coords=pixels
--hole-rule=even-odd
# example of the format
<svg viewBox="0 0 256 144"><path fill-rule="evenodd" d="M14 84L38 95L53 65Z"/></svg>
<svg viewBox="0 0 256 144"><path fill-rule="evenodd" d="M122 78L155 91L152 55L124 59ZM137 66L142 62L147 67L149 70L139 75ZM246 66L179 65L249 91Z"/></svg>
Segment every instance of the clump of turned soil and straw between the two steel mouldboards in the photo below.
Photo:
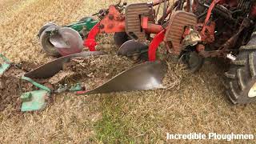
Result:
<svg viewBox="0 0 256 144"><path fill-rule="evenodd" d="M54 79L53 84L60 83L69 86L80 82L86 87L86 90L91 90L134 66L134 63L129 61L127 58L119 58L111 54L88 58L72 58L70 62L63 65L63 71L60 71L51 79Z"/></svg>

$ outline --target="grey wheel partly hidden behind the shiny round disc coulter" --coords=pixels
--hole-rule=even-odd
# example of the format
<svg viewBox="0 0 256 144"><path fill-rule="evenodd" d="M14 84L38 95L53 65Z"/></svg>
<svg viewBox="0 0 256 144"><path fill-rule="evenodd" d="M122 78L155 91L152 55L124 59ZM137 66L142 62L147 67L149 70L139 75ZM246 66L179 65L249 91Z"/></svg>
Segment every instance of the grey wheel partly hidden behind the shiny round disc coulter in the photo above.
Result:
<svg viewBox="0 0 256 144"><path fill-rule="evenodd" d="M54 28L55 26L50 26L46 30L44 30L40 36L40 42L42 45L42 49L46 52L46 54L54 57L58 57L60 54L55 49L54 45L50 42L50 34L49 30Z"/></svg>

